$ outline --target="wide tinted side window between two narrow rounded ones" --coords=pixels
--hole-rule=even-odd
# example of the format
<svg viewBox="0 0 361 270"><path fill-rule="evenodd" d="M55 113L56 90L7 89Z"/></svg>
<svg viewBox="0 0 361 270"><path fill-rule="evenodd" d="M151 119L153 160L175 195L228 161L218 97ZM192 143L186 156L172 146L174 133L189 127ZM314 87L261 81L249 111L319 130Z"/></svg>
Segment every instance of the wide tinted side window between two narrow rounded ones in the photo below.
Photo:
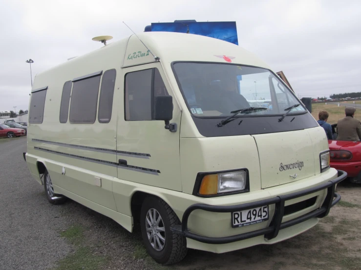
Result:
<svg viewBox="0 0 361 270"><path fill-rule="evenodd" d="M97 115L100 75L74 81L69 121L72 124L93 124Z"/></svg>

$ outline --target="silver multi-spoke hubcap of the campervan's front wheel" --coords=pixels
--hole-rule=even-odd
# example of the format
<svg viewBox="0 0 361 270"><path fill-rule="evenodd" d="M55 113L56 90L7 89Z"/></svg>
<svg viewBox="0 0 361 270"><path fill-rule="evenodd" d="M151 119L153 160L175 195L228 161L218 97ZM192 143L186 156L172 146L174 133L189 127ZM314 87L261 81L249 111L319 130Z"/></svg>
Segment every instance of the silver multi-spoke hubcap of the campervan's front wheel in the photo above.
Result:
<svg viewBox="0 0 361 270"><path fill-rule="evenodd" d="M154 208L149 209L147 212L146 230L149 243L153 249L156 251L163 250L166 244L166 228L162 217Z"/></svg>

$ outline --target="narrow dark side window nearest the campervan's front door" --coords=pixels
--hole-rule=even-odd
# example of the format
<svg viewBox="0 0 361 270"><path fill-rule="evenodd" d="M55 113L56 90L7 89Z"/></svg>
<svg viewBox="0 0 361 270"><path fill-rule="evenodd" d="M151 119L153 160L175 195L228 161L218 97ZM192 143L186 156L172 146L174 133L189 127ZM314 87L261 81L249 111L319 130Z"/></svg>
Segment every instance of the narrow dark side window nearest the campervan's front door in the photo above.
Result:
<svg viewBox="0 0 361 270"><path fill-rule="evenodd" d="M100 87L98 121L99 123L109 123L111 111L113 109L113 95L115 77L117 72L115 69L107 70L102 78L102 86Z"/></svg>

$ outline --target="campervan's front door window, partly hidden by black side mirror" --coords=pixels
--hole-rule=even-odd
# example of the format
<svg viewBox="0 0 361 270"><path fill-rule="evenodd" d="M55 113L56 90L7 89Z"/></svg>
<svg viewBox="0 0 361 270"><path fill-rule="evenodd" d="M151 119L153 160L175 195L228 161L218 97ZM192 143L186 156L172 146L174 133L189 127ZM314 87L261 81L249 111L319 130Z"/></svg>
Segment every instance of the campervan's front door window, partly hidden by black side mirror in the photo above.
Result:
<svg viewBox="0 0 361 270"><path fill-rule="evenodd" d="M125 78L125 119L152 119L154 96L168 96L167 88L157 68L130 72Z"/></svg>

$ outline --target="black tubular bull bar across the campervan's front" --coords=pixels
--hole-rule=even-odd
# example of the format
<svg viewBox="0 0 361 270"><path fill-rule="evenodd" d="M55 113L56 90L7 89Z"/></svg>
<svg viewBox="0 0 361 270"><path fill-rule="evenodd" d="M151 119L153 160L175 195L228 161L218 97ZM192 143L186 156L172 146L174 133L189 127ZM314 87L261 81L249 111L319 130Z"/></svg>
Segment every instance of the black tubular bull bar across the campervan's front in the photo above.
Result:
<svg viewBox="0 0 361 270"><path fill-rule="evenodd" d="M331 207L336 205L340 199L341 196L338 193L335 193L335 188L338 183L340 183L342 180L344 180L347 177L347 173L344 171L338 170L338 177L329 180L326 183L323 183L319 186L315 186L303 191L286 194L286 195L279 195L273 198L251 202L251 203L245 203L240 205L231 205L231 206L213 206L213 205L207 205L207 204L193 204L190 207L186 209L186 211L183 214L182 217L182 225L174 226L171 228L171 231L177 234L181 234L187 238L207 243L207 244L227 244L232 243L240 240L249 239L252 237L264 235L264 237L268 240L275 238L278 235L279 230L285 229L291 226L294 226L296 224L299 224L301 222L304 222L306 220L309 220L314 217L322 218L325 217ZM284 206L285 201L295 199L298 197L302 197L311 193L315 193L321 190L327 189L327 195L326 198L323 201L323 204L319 209L316 209L313 212L307 213L305 215L302 215L300 217L297 217L295 219L286 221L284 223L282 222L283 214L284 214ZM334 199L335 198L335 199ZM188 230L188 218L194 210L200 209L204 211L209 212L236 212L236 211L242 211L247 210L251 208L261 207L265 205L275 204L276 209L275 213L273 215L272 221L269 225L269 227L260 229L257 231L250 231L238 235L232 235L232 236L226 236L226 237L207 237L203 235L199 235L196 233L192 233Z"/></svg>

